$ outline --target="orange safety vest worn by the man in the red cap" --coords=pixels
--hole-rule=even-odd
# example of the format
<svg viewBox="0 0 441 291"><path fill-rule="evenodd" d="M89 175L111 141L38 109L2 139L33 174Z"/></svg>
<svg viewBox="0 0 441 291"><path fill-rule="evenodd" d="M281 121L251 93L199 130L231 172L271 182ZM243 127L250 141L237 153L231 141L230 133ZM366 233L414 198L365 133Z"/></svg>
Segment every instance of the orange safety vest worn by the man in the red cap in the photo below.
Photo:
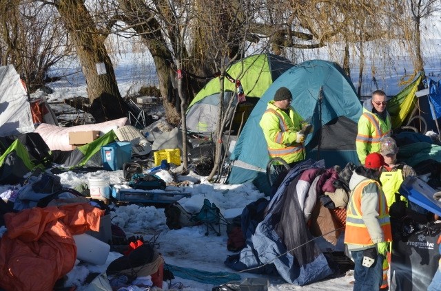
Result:
<svg viewBox="0 0 441 291"><path fill-rule="evenodd" d="M360 184L356 186L347 205L345 244L374 245L365 222L362 219L361 212L363 188L371 183L376 183L378 189L380 189L380 195L378 197L378 222L382 228L384 241L392 241L391 221L389 211L387 210L386 197L384 197L380 184L375 180L369 179L360 182Z"/></svg>

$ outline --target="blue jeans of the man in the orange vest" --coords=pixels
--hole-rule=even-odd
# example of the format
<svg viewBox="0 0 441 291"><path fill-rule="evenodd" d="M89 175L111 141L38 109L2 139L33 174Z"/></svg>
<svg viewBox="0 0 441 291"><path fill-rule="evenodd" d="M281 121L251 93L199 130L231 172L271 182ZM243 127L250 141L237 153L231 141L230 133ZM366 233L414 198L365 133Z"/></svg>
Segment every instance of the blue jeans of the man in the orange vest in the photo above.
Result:
<svg viewBox="0 0 441 291"><path fill-rule="evenodd" d="M369 268L362 265L363 262L363 250L351 251L353 262L355 266L353 268L353 291L373 291L380 290L380 285L383 280L383 259L382 255L376 257L375 262Z"/></svg>

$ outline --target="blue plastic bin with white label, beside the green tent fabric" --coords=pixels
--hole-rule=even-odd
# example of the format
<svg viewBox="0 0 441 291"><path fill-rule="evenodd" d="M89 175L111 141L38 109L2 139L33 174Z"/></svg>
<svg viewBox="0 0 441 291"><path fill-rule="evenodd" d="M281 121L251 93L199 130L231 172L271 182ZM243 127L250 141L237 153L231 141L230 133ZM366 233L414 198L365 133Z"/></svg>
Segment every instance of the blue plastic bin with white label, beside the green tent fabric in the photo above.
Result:
<svg viewBox="0 0 441 291"><path fill-rule="evenodd" d="M101 147L103 168L106 171L123 169L125 162L132 160L132 144L130 142L112 142Z"/></svg>

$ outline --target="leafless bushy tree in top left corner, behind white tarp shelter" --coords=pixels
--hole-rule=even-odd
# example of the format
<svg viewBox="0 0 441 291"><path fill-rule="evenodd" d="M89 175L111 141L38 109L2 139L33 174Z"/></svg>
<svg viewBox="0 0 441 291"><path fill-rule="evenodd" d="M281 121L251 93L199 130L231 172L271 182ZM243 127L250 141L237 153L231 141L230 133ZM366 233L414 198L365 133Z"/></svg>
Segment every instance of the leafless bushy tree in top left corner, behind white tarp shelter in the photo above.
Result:
<svg viewBox="0 0 441 291"><path fill-rule="evenodd" d="M32 93L52 80L48 72L72 53L56 10L34 1L0 3L1 65L14 65Z"/></svg>

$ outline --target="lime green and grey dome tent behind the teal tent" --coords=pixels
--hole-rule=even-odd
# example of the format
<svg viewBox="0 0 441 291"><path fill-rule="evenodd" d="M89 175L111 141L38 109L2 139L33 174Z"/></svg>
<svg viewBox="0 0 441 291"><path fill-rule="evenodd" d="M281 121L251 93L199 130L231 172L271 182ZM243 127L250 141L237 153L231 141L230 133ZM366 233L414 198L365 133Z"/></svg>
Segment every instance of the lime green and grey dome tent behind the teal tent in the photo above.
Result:
<svg viewBox="0 0 441 291"><path fill-rule="evenodd" d="M243 58L232 64L227 73L234 80L240 80L246 97L245 103L240 103L236 109L237 118L234 117L234 107L237 104L235 97L236 84L227 78L224 79L224 112L231 98L236 98L229 110L229 120L233 120L233 129L240 125L242 113L245 118L249 116L258 99L265 93L269 86L287 69L292 67L287 58L274 54L256 54ZM220 83L218 78L210 80L201 91L196 94L187 109L187 131L209 135L216 131L219 109ZM235 121L238 120L238 121Z"/></svg>

